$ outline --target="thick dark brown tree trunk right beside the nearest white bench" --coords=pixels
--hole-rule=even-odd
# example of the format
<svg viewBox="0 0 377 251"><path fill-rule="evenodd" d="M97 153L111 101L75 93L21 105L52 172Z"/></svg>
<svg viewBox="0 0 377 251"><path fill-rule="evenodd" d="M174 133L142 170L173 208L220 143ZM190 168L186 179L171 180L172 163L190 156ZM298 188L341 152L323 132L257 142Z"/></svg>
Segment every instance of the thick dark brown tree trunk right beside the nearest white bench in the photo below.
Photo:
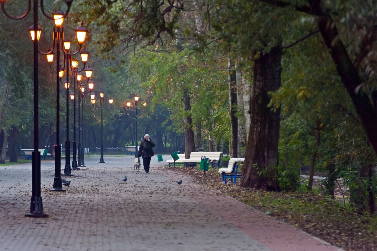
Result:
<svg viewBox="0 0 377 251"><path fill-rule="evenodd" d="M241 186L280 191L277 180L280 109L268 108L270 95L281 86L281 47L254 62L251 125L242 168Z"/></svg>

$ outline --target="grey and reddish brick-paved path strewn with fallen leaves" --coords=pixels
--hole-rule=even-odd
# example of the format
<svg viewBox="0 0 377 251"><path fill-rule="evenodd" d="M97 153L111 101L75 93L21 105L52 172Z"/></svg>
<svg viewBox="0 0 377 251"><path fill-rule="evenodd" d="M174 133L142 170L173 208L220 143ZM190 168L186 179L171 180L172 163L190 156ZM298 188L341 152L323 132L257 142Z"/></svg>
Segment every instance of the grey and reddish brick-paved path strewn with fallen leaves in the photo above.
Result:
<svg viewBox="0 0 377 251"><path fill-rule="evenodd" d="M30 206L31 164L0 167L0 251L340 250L159 168L156 157L149 174L133 172L132 157L98 160L86 158L87 167L72 171L66 192L49 191L54 161L42 162L46 219L23 217Z"/></svg>

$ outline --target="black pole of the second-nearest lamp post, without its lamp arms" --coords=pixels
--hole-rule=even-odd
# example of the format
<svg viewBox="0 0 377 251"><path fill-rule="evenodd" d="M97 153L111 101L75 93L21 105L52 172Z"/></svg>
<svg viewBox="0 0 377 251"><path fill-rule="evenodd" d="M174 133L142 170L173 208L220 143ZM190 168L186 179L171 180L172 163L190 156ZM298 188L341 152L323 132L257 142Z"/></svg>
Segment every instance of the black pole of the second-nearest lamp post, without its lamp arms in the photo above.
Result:
<svg viewBox="0 0 377 251"><path fill-rule="evenodd" d="M55 178L51 191L65 191L61 185L60 161L60 28L56 31L56 145L55 145Z"/></svg>

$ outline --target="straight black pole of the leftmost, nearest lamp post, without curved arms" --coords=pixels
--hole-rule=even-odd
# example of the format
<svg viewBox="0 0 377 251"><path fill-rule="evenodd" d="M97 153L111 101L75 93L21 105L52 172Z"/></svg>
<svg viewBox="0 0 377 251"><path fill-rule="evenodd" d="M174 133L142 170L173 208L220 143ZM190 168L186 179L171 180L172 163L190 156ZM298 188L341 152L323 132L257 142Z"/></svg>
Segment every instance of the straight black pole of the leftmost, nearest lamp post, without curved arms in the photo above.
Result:
<svg viewBox="0 0 377 251"><path fill-rule="evenodd" d="M34 8L34 34L37 38L38 29L38 1L33 1ZM31 203L30 213L25 214L27 217L48 217L43 213L43 203L41 197L41 154L38 151L38 41L34 39L34 152L32 152L31 166Z"/></svg>

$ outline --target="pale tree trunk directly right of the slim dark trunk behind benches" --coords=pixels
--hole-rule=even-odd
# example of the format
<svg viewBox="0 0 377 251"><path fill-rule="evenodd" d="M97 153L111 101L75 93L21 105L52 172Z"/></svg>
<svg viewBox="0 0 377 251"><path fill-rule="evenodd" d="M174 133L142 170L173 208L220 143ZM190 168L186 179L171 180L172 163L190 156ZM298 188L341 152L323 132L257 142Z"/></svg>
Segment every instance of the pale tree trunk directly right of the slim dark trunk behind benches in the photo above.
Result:
<svg viewBox="0 0 377 251"><path fill-rule="evenodd" d="M246 130L245 130L245 117L244 117L244 86L242 82L241 71L236 71L236 83L237 83L237 107L238 111L238 144L237 144L237 156L245 156L245 146L246 146Z"/></svg>

